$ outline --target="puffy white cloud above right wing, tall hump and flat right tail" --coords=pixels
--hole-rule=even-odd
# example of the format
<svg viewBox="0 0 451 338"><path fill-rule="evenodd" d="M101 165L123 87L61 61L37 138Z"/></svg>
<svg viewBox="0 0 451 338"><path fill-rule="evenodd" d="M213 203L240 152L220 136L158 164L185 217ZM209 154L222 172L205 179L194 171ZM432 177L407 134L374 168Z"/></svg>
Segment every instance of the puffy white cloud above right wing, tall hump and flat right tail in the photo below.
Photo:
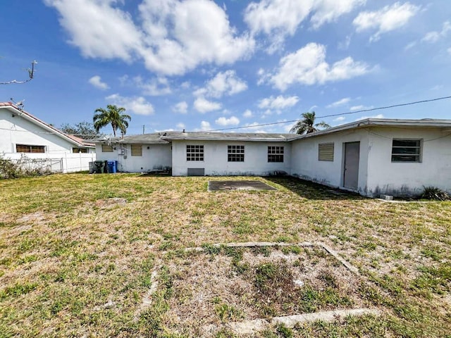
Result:
<svg viewBox="0 0 451 338"><path fill-rule="evenodd" d="M324 84L347 80L369 72L368 65L354 61L351 57L329 65L326 63L326 46L309 43L280 59L280 67L269 81L274 87L284 91L290 84Z"/></svg>

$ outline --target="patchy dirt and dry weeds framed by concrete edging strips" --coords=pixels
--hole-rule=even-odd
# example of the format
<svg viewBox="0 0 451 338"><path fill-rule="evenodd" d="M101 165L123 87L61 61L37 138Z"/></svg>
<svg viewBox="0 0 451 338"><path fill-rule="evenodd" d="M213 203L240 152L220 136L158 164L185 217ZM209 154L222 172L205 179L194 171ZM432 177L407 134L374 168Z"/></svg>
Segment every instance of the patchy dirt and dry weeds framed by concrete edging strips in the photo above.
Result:
<svg viewBox="0 0 451 338"><path fill-rule="evenodd" d="M193 337L242 320L364 306L357 275L316 246L211 246L186 252L168 270L165 325Z"/></svg>

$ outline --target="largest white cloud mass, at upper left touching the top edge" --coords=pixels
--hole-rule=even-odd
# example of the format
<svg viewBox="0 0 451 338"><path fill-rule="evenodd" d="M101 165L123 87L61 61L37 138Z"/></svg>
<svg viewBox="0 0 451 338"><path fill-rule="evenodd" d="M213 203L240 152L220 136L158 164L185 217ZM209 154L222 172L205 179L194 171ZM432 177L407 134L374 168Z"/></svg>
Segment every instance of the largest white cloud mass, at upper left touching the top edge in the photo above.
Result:
<svg viewBox="0 0 451 338"><path fill-rule="evenodd" d="M141 59L159 74L183 75L204 63L232 64L248 58L255 47L254 38L238 35L214 1L142 0L139 15L124 11L119 0L44 2L56 8L69 43L82 56L128 63Z"/></svg>

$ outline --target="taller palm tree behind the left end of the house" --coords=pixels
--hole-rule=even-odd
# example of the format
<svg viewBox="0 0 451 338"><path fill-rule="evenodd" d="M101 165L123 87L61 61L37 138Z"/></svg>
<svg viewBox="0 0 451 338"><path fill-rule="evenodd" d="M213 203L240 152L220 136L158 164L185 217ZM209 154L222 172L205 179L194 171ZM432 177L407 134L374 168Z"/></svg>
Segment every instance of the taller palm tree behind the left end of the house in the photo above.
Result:
<svg viewBox="0 0 451 338"><path fill-rule="evenodd" d="M132 120L130 115L124 114L125 108L109 104L104 108L97 108L94 111L94 128L99 132L100 128L106 125L113 127L113 134L116 137L116 130L121 130L124 135L128 128L128 121Z"/></svg>

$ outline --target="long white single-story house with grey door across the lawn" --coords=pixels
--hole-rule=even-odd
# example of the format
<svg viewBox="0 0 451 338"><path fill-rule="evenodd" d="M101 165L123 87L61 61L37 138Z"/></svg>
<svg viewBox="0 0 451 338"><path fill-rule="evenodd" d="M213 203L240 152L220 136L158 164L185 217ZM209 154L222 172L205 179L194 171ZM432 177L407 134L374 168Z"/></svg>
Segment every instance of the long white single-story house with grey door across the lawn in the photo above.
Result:
<svg viewBox="0 0 451 338"><path fill-rule="evenodd" d="M95 142L97 158L124 172L287 173L364 196L451 192L451 120L367 118L304 135L161 132Z"/></svg>

